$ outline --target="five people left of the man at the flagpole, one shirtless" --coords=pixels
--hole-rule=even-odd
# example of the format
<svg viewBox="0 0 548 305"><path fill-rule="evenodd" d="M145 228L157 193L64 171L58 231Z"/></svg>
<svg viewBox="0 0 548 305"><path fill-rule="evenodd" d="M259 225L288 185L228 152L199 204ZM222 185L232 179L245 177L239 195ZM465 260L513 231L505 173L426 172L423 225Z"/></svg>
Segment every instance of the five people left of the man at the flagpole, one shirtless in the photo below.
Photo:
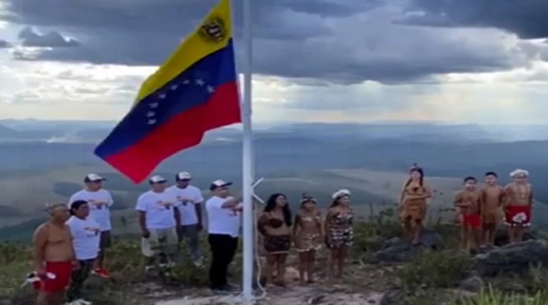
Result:
<svg viewBox="0 0 548 305"><path fill-rule="evenodd" d="M190 185L190 174L176 175L166 188L159 175L149 179L150 190L137 200L141 249L147 270L170 267L177 262L178 243L186 240L190 257L201 265L199 231L202 230L202 193ZM103 188L105 178L91 173L84 189L69 204L47 206L50 219L33 236L34 272L28 282L38 290L38 305L90 305L82 287L90 276L110 278L105 254L112 243L110 210L112 195Z"/></svg>

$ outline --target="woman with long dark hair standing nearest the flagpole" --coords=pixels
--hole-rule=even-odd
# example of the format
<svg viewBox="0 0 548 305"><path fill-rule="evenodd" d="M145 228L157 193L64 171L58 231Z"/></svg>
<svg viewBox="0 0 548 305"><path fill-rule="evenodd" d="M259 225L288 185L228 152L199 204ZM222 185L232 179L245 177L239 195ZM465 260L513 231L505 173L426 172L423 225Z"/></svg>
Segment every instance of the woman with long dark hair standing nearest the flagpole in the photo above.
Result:
<svg viewBox="0 0 548 305"><path fill-rule="evenodd" d="M284 194L269 197L258 220L258 230L264 237L266 252L266 282L273 282L274 271L277 286L285 286L286 259L291 245L291 210Z"/></svg>

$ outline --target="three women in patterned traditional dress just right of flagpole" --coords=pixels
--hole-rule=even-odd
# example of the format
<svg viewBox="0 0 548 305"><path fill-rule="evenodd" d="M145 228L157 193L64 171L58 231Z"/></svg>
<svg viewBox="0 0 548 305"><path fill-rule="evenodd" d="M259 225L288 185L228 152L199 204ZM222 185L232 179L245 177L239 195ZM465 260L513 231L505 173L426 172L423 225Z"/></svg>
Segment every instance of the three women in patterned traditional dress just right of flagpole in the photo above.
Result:
<svg viewBox="0 0 548 305"><path fill-rule="evenodd" d="M336 191L332 195L332 203L325 218L319 208L316 208L316 199L309 195L304 195L301 199L295 217L292 217L286 195L277 193L269 197L257 223L260 249L266 256L263 285L273 283L285 286L285 263L292 244L299 254L301 283L314 282L316 252L324 244L330 254L327 276L330 279L343 276L345 259L353 245L350 195L346 189Z"/></svg>

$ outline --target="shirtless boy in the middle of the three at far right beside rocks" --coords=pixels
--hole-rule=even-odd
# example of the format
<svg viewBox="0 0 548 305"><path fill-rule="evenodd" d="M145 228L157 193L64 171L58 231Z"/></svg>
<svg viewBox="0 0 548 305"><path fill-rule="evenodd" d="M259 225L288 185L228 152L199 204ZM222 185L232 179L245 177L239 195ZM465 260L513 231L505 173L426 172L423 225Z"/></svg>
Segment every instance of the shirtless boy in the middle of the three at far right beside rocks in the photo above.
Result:
<svg viewBox="0 0 548 305"><path fill-rule="evenodd" d="M484 244L495 245L495 230L501 221L504 188L497 183L497 173L485 174L485 186L482 188L482 216L484 223Z"/></svg>

